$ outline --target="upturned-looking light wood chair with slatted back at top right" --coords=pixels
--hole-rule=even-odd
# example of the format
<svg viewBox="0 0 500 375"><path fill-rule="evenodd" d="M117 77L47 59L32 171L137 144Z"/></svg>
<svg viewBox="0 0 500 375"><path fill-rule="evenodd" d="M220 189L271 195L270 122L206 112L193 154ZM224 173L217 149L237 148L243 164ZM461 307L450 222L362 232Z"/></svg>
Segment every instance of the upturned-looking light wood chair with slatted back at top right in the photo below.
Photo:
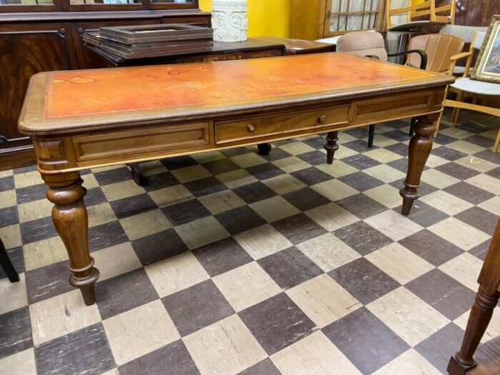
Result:
<svg viewBox="0 0 500 375"><path fill-rule="evenodd" d="M443 15L444 13L448 14ZM402 24L393 24L391 22L391 17L399 14L407 14L406 22ZM421 19L421 17L426 16L429 16L429 19ZM449 4L438 7L436 7L436 0L426 0L420 4L396 9L391 9L391 0L386 0L386 26L389 31L409 31L427 26L454 23L455 0L449 0Z"/></svg>

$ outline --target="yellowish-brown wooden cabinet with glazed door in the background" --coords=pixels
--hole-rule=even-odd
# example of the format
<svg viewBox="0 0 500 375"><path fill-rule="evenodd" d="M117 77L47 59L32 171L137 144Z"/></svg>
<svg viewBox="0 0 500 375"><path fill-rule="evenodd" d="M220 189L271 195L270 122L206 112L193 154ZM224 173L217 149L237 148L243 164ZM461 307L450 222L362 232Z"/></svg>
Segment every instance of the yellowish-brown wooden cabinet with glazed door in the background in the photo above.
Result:
<svg viewBox="0 0 500 375"><path fill-rule="evenodd" d="M327 38L347 31L381 30L385 0L291 0L290 35Z"/></svg>

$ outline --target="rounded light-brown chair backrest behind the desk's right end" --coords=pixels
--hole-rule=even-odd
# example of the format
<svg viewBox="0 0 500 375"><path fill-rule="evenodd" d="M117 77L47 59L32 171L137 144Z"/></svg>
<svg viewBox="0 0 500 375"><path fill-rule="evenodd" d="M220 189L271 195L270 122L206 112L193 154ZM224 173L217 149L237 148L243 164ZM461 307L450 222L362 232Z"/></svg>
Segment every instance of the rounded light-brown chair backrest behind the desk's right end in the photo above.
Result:
<svg viewBox="0 0 500 375"><path fill-rule="evenodd" d="M423 49L426 52L426 70L446 73L453 64L450 57L459 54L464 49L464 41L456 36L444 34L419 35L411 38L409 49ZM420 56L409 55L406 64L419 67Z"/></svg>

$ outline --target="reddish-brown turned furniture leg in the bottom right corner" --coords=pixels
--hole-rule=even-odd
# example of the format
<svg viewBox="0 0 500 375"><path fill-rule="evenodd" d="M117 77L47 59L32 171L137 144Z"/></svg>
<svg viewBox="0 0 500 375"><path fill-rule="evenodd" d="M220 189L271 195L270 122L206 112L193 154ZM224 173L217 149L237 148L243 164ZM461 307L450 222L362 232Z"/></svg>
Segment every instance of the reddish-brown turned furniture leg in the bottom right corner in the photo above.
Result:
<svg viewBox="0 0 500 375"><path fill-rule="evenodd" d="M451 357L448 372L451 375L464 375L476 367L474 353L488 327L491 316L500 297L500 220L489 245L486 259L479 274L479 291L471 309L469 321L461 349ZM486 374L486 372L485 372Z"/></svg>

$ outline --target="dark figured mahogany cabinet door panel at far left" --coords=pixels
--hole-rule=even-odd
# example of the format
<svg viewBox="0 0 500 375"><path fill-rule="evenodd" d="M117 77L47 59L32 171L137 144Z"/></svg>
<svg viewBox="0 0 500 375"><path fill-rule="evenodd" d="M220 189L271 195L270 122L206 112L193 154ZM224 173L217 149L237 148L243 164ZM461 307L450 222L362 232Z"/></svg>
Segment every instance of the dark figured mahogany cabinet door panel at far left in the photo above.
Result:
<svg viewBox="0 0 500 375"><path fill-rule="evenodd" d="M42 30L22 27L0 29L0 134L9 140L23 137L17 120L29 78L40 71L71 69L73 60L69 28L61 24Z"/></svg>

